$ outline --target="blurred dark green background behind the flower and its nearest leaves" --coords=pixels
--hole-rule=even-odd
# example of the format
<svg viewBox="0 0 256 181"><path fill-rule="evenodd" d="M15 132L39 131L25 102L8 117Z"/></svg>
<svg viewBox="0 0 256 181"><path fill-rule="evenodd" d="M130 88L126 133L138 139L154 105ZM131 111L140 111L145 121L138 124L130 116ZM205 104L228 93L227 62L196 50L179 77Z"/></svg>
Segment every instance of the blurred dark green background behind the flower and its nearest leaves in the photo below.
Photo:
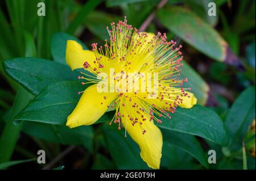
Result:
<svg viewBox="0 0 256 181"><path fill-rule="evenodd" d="M39 2L45 3L46 16L37 15ZM216 3L216 16L208 15L209 2ZM79 39L88 49L94 42L104 44L106 26L124 15L133 27L166 32L183 45L185 86L221 117L232 142L220 146L195 137L202 153L217 152L217 163L208 165L191 151L189 138L187 148L165 141L161 169L255 169L255 1L6 0L0 5L0 169L148 169L138 146L115 128L96 124L71 132L34 121L15 125L15 116L40 91L24 89L22 75L15 74L29 74L30 64L26 70L8 65L8 71L2 64L16 57L64 64L65 40ZM40 149L46 150L46 164L34 159Z"/></svg>

